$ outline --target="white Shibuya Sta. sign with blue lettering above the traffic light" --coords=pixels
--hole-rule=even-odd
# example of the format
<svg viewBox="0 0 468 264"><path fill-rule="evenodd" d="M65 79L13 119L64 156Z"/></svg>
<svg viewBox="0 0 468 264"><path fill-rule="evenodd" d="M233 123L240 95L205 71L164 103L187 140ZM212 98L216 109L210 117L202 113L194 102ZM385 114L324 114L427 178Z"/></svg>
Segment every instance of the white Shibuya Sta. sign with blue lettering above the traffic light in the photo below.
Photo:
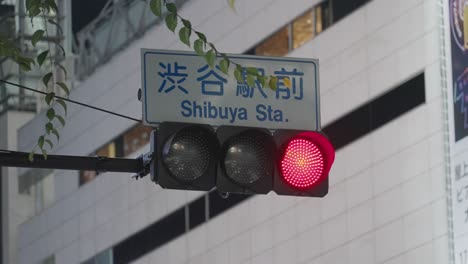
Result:
<svg viewBox="0 0 468 264"><path fill-rule="evenodd" d="M277 89L239 83L194 52L141 50L143 121L320 129L318 60L228 55L231 62L278 77ZM217 58L219 62L220 57ZM216 63L218 64L218 63ZM245 72L243 77L245 78ZM291 85L287 87L284 79Z"/></svg>

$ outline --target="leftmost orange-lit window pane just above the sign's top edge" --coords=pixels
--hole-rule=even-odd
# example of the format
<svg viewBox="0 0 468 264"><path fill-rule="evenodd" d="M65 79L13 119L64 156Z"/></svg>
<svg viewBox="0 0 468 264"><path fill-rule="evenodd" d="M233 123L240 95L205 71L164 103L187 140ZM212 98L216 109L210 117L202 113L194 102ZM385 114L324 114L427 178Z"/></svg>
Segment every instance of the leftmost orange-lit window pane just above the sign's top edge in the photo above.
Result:
<svg viewBox="0 0 468 264"><path fill-rule="evenodd" d="M289 30L284 27L255 48L255 54L284 56L289 52Z"/></svg>

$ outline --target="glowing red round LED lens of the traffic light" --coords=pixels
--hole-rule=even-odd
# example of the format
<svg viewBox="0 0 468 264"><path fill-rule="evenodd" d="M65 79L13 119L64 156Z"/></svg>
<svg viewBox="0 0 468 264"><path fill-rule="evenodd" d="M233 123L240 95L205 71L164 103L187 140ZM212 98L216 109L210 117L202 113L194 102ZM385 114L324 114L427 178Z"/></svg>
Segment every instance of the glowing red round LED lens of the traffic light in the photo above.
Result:
<svg viewBox="0 0 468 264"><path fill-rule="evenodd" d="M283 152L280 169L284 180L292 187L307 189L321 180L324 166L323 153L314 142L295 138Z"/></svg>

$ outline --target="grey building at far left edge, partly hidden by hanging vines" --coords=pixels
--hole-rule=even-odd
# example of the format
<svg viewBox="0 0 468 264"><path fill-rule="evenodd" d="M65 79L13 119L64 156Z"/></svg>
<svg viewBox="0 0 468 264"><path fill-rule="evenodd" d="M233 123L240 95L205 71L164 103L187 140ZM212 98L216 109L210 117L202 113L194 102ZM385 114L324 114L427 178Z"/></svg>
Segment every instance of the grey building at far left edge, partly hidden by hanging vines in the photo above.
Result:
<svg viewBox="0 0 468 264"><path fill-rule="evenodd" d="M60 12L67 9L65 1L57 1ZM30 56L36 51L47 49L47 41L39 41L36 47L32 47L31 36L34 30L44 29L45 26L35 19L35 27L30 24L30 18L24 13L25 1L2 1L0 4L0 35L10 38L19 45L23 54ZM51 15L50 18L56 18ZM57 20L63 29L66 29L65 22L69 20ZM69 45L65 39L57 37L57 30L48 28L49 40L58 41L68 51ZM71 40L68 41L71 44ZM52 50L50 54L56 54ZM44 74L38 67L33 67L32 71L23 72L20 67L13 62L11 58L0 57L0 79L26 85L35 89L44 90L40 78ZM38 100L40 98L40 100ZM13 85L0 83L0 149L17 149L17 130L25 123L30 121L44 106L43 99L37 94L19 89ZM29 220L37 212L41 211L52 199L48 199L50 184L52 179L43 178L44 175L31 174L30 180L37 184L27 191L20 191L18 170L16 168L0 168L1 177L1 241L0 241L0 260L1 263L18 263L17 261L17 230L21 223Z"/></svg>

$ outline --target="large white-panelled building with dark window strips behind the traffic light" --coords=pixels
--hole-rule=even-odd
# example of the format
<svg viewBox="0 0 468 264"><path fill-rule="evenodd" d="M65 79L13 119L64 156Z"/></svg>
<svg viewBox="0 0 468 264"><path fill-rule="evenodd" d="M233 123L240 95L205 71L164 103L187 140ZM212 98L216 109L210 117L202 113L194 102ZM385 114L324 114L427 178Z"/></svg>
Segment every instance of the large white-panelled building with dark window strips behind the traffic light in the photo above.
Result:
<svg viewBox="0 0 468 264"><path fill-rule="evenodd" d="M225 1L178 2L223 52L319 59L322 126L337 148L329 194L222 199L149 177L56 170L50 206L20 226L18 263L466 263L450 184L452 2L238 0L235 12ZM108 19L130 14L109 19L120 28L149 15L142 1L108 8ZM70 97L140 117L140 49L187 47L159 20L141 31L100 22L81 31L90 53L78 56ZM44 119L19 130L19 150L34 146ZM54 151L136 157L149 131L70 104ZM35 173L19 170L20 190L37 188L26 180Z"/></svg>

